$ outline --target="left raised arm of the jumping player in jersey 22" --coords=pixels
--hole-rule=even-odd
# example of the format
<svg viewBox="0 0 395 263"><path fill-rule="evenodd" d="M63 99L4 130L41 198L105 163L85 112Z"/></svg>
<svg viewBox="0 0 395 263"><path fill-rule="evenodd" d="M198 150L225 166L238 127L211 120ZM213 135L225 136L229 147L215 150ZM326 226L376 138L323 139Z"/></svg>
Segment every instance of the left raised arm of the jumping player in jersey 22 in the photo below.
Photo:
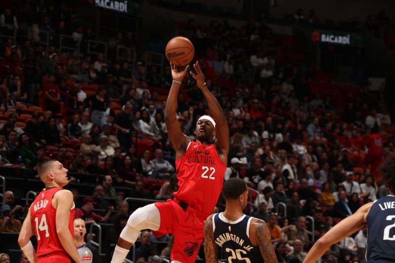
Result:
<svg viewBox="0 0 395 263"><path fill-rule="evenodd" d="M171 75L174 81L182 82L188 72L189 65L183 71L178 71L175 65L170 63ZM166 124L167 134L170 142L176 151L176 159L180 158L187 150L187 146L191 141L188 136L181 132L180 124L177 120L177 99L181 84L174 82L170 87L167 96L166 108L164 109L164 123Z"/></svg>

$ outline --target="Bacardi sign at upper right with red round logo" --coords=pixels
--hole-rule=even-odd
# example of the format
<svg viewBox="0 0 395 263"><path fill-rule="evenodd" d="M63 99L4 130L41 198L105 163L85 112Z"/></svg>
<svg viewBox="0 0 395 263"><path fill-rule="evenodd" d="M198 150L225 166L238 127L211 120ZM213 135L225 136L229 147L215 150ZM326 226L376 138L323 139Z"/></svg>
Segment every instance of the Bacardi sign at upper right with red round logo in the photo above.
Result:
<svg viewBox="0 0 395 263"><path fill-rule="evenodd" d="M357 33L313 29L312 40L323 44L363 47L363 35Z"/></svg>

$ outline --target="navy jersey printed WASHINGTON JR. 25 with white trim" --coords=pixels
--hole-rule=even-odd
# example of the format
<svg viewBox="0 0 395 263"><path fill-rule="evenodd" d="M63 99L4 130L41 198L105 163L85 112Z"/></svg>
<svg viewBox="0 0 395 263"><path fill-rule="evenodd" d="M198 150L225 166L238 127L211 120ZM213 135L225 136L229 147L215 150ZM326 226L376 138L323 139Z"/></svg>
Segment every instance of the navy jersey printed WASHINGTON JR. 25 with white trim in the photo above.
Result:
<svg viewBox="0 0 395 263"><path fill-rule="evenodd" d="M263 263L259 247L254 247L249 238L253 217L243 215L229 221L222 213L213 216L214 242L221 247L228 263Z"/></svg>

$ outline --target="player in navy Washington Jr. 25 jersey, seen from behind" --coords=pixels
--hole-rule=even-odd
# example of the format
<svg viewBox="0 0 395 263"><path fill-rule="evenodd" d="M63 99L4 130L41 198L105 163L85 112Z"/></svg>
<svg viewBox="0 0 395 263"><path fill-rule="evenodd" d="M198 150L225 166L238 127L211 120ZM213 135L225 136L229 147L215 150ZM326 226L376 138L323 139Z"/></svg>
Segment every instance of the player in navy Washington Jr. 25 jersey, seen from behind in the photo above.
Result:
<svg viewBox="0 0 395 263"><path fill-rule="evenodd" d="M227 180L222 194L225 212L210 215L204 225L206 263L218 262L218 247L228 262L278 263L266 223L243 213L248 199L244 180Z"/></svg>

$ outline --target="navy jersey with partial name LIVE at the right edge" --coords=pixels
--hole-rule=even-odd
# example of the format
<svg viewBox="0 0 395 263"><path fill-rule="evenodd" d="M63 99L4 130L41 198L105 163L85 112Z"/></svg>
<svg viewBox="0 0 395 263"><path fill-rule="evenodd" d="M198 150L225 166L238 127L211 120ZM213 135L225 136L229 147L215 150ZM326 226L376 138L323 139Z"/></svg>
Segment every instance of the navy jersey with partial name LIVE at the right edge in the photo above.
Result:
<svg viewBox="0 0 395 263"><path fill-rule="evenodd" d="M367 214L367 263L395 261L395 196L387 195L370 207Z"/></svg>

